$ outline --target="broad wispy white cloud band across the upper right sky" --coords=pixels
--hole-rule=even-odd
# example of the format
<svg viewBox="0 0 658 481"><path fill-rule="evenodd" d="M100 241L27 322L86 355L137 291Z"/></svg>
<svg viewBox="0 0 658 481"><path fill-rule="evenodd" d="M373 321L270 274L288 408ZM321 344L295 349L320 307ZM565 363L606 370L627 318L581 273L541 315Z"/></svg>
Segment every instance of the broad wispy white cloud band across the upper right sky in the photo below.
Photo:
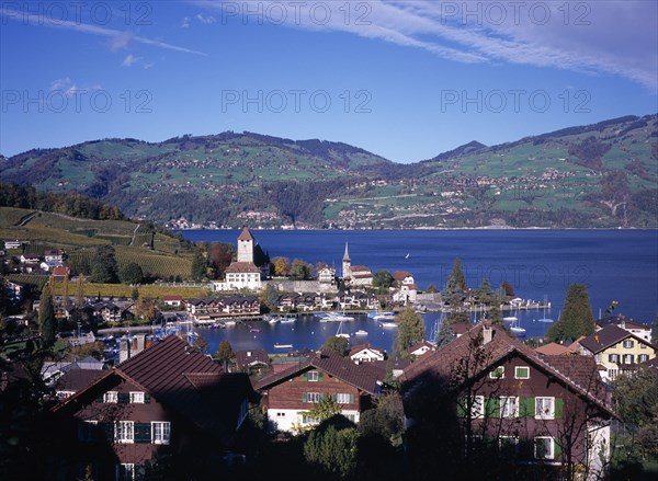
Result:
<svg viewBox="0 0 658 481"><path fill-rule="evenodd" d="M648 1L405 1L277 3L197 1L225 22L339 31L431 51L452 61L514 64L627 78L658 90L658 7ZM236 11L238 5L238 11ZM282 21L281 8L287 9ZM324 9L330 9L327 15ZM321 11L320 11L321 10ZM245 20L245 11L258 12ZM273 13L272 13L273 15Z"/></svg>

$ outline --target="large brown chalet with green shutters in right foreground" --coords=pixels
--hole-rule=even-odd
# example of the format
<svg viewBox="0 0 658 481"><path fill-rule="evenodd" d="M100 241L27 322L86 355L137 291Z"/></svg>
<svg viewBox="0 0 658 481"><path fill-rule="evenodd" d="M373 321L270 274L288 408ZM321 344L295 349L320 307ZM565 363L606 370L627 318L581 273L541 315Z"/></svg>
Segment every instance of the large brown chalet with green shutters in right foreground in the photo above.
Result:
<svg viewBox="0 0 658 481"><path fill-rule="evenodd" d="M499 460L522 479L565 469L598 479L610 459L615 414L592 357L540 355L487 322L400 380L410 457L431 453L446 476Z"/></svg>

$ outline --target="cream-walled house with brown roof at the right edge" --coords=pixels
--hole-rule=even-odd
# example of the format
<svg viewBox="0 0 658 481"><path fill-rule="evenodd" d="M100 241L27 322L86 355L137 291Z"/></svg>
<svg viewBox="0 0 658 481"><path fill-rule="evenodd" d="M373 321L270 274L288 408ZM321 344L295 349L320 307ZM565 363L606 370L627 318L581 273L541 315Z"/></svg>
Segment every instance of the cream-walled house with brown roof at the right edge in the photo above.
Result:
<svg viewBox="0 0 658 481"><path fill-rule="evenodd" d="M633 373L638 364L656 357L654 345L614 324L579 340L577 347L579 354L594 357L604 381L623 373Z"/></svg>

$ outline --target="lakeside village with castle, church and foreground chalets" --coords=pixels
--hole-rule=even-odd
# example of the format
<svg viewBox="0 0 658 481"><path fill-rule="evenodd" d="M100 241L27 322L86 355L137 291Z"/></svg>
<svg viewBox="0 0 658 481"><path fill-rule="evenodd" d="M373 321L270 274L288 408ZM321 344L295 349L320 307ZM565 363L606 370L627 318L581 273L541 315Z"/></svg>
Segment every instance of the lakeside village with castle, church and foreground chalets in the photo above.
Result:
<svg viewBox="0 0 658 481"><path fill-rule="evenodd" d="M592 334L568 343L532 347L502 321L510 317L492 319L491 308L480 305L475 320L466 316L444 321L443 332L431 339L423 325L422 334L413 336L410 325L420 318L418 310L443 308L458 314L474 298L460 298L458 307L446 305L440 293L419 293L408 272L394 272L387 291L376 294L373 273L352 265L347 243L341 275L325 266L313 280L269 277L269 259L259 251L245 228L225 278L209 284L214 295L163 296L161 309L151 312L154 321L146 325L131 327L140 313L134 299L82 304L75 296L55 296L60 322L82 319L79 312L86 312L84 319L104 327L94 332L86 324L82 332L78 321L77 332L59 333L60 342L78 353L84 353L86 345L106 346L107 341L115 346L110 350L113 366L104 362L107 352L101 353L104 358L88 354L43 363L41 377L48 392L44 400L53 423L47 432L59 433L57 443L46 437L57 446L48 458L57 460L61 476L170 479L175 473L171 479L180 479L193 471L205 479L217 470L228 476L254 473L268 462L266 456L258 455L254 423L263 435L299 439L319 426L325 430L339 415L339 431L383 436L387 449L397 453L405 446L410 459L422 457L441 433L441 443L451 448L444 462L457 478L486 454L501 476L600 479L609 469L617 434L615 379L658 369L651 328L623 316L599 319ZM43 260L26 256L20 264L49 271L53 282L67 282L65 259L58 250L44 253ZM20 300L23 286L7 286L10 299ZM275 301L269 299L272 296ZM506 301L517 308L522 304L519 298ZM33 309L41 311L38 301ZM304 313L331 317L337 311L379 316L382 323L398 331L396 351L363 339L350 343L339 334L315 351L234 352L223 343L211 355L207 343L180 331L185 322L222 328L245 320L285 322ZM25 351L25 339L5 342L3 356L20 357L19 345ZM21 375L10 369L4 376L9 382ZM397 408L384 412L390 403ZM436 403L444 409L441 415ZM394 427L385 431L374 423L377 416L392 416L387 423ZM456 431L449 427L453 425ZM416 460L419 466L431 463ZM171 471L164 474L167 470Z"/></svg>

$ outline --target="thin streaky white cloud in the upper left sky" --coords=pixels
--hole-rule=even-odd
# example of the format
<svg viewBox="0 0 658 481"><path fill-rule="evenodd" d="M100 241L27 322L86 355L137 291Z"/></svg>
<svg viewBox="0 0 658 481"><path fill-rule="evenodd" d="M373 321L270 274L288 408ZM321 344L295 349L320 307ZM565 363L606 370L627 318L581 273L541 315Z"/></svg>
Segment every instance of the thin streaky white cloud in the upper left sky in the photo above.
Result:
<svg viewBox="0 0 658 481"><path fill-rule="evenodd" d="M72 22L72 21L68 21L68 20L53 21L53 19L47 19L43 14L31 13L31 12L26 12L26 11L16 11L16 10L8 8L7 5L2 5L2 8L0 9L0 15L3 18L3 22L5 21L4 19L9 19L9 20L13 20L16 22L29 23L29 24L35 25L35 26L47 26L47 27L52 27L52 28L65 28L65 30L71 30L71 31L76 31L76 32L80 32L80 33L84 33L84 34L106 37L110 39L109 48L112 51L127 48L132 42L136 42L139 44L150 45L150 46L167 49L167 50L180 51L183 54L193 54L193 55L203 55L203 56L206 55L203 51L193 50L191 48L185 48L185 47L181 47L181 46L173 45L173 44L168 44L168 43L159 41L159 39L148 38L148 37L144 37L140 35L134 35L133 33L127 32L127 31L107 28L104 26L90 25L87 23Z"/></svg>

